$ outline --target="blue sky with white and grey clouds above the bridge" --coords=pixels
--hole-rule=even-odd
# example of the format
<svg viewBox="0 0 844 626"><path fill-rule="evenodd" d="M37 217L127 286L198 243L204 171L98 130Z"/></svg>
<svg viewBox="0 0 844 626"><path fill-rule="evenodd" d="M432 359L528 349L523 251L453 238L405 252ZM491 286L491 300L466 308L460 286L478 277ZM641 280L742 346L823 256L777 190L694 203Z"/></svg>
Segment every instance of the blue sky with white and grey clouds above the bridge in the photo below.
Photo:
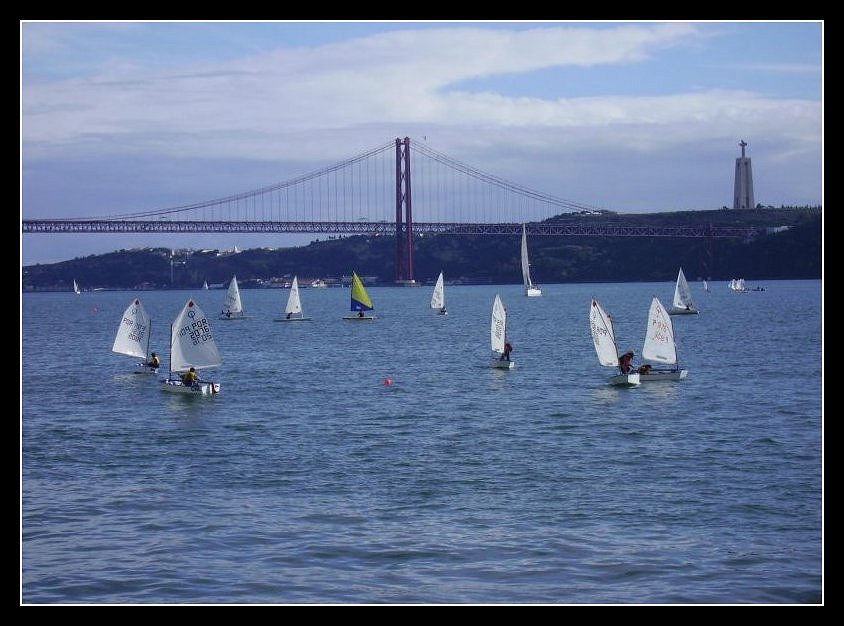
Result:
<svg viewBox="0 0 844 626"><path fill-rule="evenodd" d="M619 213L823 204L823 22L20 22L21 219L254 190L396 137ZM318 235L27 234L21 264Z"/></svg>

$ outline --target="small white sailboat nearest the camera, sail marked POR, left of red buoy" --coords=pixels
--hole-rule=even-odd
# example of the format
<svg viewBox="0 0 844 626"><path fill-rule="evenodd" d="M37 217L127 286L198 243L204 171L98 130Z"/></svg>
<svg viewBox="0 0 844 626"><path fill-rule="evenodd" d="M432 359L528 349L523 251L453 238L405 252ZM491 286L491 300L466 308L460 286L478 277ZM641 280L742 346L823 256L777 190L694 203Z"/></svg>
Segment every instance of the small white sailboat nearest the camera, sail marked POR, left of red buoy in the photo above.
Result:
<svg viewBox="0 0 844 626"><path fill-rule="evenodd" d="M171 393L218 394L220 383L202 380L198 370L222 363L208 318L196 302L188 300L170 327L170 373L161 379L161 388ZM189 371L196 371L196 380L183 382L179 374Z"/></svg>

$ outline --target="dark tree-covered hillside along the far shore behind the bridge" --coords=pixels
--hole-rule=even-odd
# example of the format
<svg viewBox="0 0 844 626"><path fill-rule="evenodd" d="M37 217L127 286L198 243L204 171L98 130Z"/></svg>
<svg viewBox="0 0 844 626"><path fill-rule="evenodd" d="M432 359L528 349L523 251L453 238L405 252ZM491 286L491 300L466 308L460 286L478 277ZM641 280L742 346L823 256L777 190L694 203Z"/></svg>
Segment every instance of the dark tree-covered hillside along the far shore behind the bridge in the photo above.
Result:
<svg viewBox="0 0 844 626"><path fill-rule="evenodd" d="M530 239L531 274L539 284L673 280L683 267L690 280L811 279L822 276L822 212L819 207L685 211L650 214L561 215L551 221L600 221L626 226L764 226L753 241L667 237L536 236ZM61 237L62 235L57 235ZM169 248L119 250L61 263L22 268L25 291L69 290L74 278L88 289L163 289L227 283L278 286L300 280L337 279L352 270L390 284L395 277L395 239L350 236L307 246L250 249L237 254ZM435 235L414 240L415 277L433 281L521 282L519 241L514 236ZM171 281L172 275L172 281Z"/></svg>

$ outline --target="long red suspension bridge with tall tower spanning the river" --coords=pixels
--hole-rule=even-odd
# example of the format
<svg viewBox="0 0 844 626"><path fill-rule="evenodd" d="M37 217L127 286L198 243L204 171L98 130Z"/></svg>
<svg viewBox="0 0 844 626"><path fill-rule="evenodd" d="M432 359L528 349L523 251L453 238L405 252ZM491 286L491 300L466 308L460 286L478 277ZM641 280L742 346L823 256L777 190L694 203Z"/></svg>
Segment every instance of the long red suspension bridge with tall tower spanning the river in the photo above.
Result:
<svg viewBox="0 0 844 626"><path fill-rule="evenodd" d="M23 233L314 233L395 235L396 282L414 282L418 234L752 238L734 226L629 226L604 212L482 172L425 142L396 138L352 158L252 191L166 209L24 219ZM573 216L584 219L572 220Z"/></svg>

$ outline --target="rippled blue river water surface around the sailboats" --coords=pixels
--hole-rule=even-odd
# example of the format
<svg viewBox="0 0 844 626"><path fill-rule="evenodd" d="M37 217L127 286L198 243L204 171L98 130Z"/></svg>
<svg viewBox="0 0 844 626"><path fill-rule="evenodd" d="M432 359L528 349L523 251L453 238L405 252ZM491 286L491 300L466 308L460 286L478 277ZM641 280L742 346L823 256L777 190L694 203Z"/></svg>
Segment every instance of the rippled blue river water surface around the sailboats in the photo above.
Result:
<svg viewBox="0 0 844 626"><path fill-rule="evenodd" d="M606 384L590 298L638 348L672 283L25 294L21 601L823 602L821 281L692 290L682 382ZM516 367L488 367L492 301ZM216 397L111 352L140 297L153 349L189 297ZM637 350L638 352L638 350ZM162 371L166 370L162 368ZM389 379L389 380L386 380ZM392 384L387 384L392 381Z"/></svg>

